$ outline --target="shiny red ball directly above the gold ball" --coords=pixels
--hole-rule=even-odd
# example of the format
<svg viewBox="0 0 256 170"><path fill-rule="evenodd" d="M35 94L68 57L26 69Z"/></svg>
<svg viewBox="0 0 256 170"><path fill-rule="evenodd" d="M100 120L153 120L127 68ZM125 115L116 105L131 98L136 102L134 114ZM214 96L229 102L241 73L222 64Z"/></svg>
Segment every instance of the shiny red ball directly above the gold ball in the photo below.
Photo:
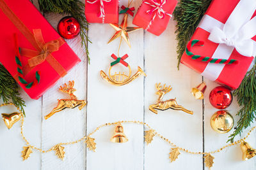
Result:
<svg viewBox="0 0 256 170"><path fill-rule="evenodd" d="M212 106L219 110L227 108L231 104L232 99L231 91L223 86L215 87L209 96L209 101Z"/></svg>

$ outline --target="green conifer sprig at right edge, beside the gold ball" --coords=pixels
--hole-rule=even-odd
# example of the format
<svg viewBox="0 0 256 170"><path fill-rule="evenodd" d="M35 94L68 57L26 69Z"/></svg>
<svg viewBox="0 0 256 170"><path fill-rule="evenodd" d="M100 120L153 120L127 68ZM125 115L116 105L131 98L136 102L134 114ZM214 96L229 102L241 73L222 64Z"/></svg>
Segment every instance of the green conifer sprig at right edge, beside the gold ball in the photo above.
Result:
<svg viewBox="0 0 256 170"><path fill-rule="evenodd" d="M250 127L256 118L256 65L247 72L241 85L233 94L237 97L237 103L241 109L236 114L240 119L235 131L228 136L228 141L231 143L234 142L235 136L241 135L243 129Z"/></svg>

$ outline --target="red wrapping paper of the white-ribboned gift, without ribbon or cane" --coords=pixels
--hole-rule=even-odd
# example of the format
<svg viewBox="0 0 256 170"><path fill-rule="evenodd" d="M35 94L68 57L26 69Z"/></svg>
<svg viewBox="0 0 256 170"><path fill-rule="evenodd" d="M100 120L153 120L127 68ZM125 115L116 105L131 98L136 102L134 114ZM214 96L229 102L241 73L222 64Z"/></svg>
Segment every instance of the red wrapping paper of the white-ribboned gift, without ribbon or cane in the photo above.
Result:
<svg viewBox="0 0 256 170"><path fill-rule="evenodd" d="M228 17L238 3L239 0L213 0L209 8L205 12L205 15L209 15L225 24ZM256 13L253 14L253 17L255 15ZM209 32L205 31L200 27L196 28L196 31L191 39L199 39L200 41L204 41L205 43L204 46L193 46L193 53L195 53L196 55L202 55L207 57L211 57L213 55L219 44L210 41L208 39L209 34ZM252 39L255 41L256 37L253 37ZM243 55L239 54L236 49L234 49L229 59L235 59L239 62L238 64L225 65L220 73L220 76L217 78L216 83L226 85L227 87L230 87L230 89L237 89L241 84L244 75L248 71L248 68L252 63L253 57L244 57ZM207 66L207 62L193 60L191 59L191 57L186 55L186 52L183 53L180 62L197 71L198 73L202 73Z"/></svg>

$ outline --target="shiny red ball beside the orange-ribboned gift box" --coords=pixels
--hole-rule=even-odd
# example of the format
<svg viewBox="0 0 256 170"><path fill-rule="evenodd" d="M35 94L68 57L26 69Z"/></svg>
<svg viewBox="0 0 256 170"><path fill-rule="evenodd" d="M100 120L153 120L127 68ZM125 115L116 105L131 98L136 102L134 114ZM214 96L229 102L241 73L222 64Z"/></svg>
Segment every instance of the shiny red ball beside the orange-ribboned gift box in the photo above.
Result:
<svg viewBox="0 0 256 170"><path fill-rule="evenodd" d="M64 17L58 24L58 32L65 39L75 38L80 32L80 24L74 17Z"/></svg>

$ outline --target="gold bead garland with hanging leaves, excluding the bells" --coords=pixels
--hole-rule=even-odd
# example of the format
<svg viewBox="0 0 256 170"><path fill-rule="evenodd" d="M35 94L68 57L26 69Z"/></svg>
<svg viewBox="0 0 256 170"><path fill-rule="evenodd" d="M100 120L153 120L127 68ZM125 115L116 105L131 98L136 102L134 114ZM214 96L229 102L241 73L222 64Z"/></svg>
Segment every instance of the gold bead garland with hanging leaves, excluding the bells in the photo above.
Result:
<svg viewBox="0 0 256 170"><path fill-rule="evenodd" d="M1 104L0 107L7 106L7 105L15 106L15 104L13 104L13 103L5 103L5 104ZM18 108L17 106L15 106L15 107L17 108L17 110L19 110L20 113L22 113L22 111L20 111L20 108ZM83 138L77 139L76 141L71 141L71 142L67 142L67 143L58 143L57 145L54 145L51 148L49 148L49 150L42 150L41 148L36 148L35 146L30 145L28 140L25 138L24 133L23 133L24 115L22 115L21 126L20 126L20 130L21 130L20 134L22 136L22 139L24 139L24 141L26 142L26 145L27 145L27 146L23 147L22 155L21 155L22 159L23 160L28 159L28 157L30 156L30 153L32 153L33 150L38 150L38 152L41 152L41 153L47 153L47 152L51 152L52 150L54 150L56 152L56 155L58 156L58 158L63 160L64 157L65 157L65 151L64 151L65 148L64 148L63 145L72 145L72 144L75 144L75 143L79 143L81 141L84 141L86 143L86 147L89 150L92 150L92 151L95 152L96 143L95 143L95 139L91 137L92 134L99 131L99 129L101 129L102 127L106 127L106 126L109 126L109 125L124 124L124 123L145 125L149 129L148 131L145 131L145 136L144 136L145 142L147 144L152 142L154 136L158 136L159 138L161 138L164 141L166 141L167 143L169 143L172 146L171 152L169 153L170 154L170 162L173 162L176 159L178 159L178 156L180 155L180 151L182 151L182 152L191 153L191 154L204 155L205 166L209 167L209 169L212 167L212 165L214 163L214 161L213 161L214 157L211 154L221 152L223 149L225 149L229 146L237 145L239 143L244 143L244 140L246 138L248 138L248 136L250 136L251 132L256 128L256 126L252 127L252 129L248 132L248 134L244 138L242 138L238 141L235 141L234 143L230 143L228 145L225 145L225 146L221 147L218 150L214 150L214 151L211 151L211 152L192 152L192 151L187 150L186 148L181 148L181 147L175 145L174 143L172 143L172 141L170 141L169 139L164 138L161 134L156 132L156 130L152 129L152 127L150 127L150 125L146 124L145 122L140 122L140 121L136 121L136 120L122 120L122 121L118 121L118 122L102 124L99 127L97 127L94 131L92 131L90 134L88 134L88 136L84 136Z"/></svg>

